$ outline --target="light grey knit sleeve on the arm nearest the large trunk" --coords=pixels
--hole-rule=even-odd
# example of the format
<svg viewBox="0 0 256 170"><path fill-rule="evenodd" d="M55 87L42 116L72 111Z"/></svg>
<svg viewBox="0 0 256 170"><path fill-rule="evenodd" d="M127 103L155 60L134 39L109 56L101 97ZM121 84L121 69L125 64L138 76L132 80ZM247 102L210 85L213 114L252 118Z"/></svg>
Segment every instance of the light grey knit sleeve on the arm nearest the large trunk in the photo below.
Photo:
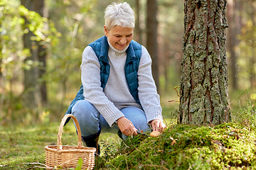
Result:
<svg viewBox="0 0 256 170"><path fill-rule="evenodd" d="M139 62L139 101L145 111L147 122L159 119L163 120L159 94L152 76L151 57L145 47L142 46L142 58Z"/></svg>

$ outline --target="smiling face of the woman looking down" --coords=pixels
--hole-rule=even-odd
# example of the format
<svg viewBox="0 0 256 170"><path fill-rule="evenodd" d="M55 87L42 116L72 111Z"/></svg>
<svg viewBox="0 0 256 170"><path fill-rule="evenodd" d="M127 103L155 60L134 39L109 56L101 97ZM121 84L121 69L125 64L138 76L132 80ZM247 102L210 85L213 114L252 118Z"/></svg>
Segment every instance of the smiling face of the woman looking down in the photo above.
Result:
<svg viewBox="0 0 256 170"><path fill-rule="evenodd" d="M117 50L124 50L129 45L129 42L132 41L134 28L114 26L112 29L107 30L106 26L104 26L104 30L110 44Z"/></svg>

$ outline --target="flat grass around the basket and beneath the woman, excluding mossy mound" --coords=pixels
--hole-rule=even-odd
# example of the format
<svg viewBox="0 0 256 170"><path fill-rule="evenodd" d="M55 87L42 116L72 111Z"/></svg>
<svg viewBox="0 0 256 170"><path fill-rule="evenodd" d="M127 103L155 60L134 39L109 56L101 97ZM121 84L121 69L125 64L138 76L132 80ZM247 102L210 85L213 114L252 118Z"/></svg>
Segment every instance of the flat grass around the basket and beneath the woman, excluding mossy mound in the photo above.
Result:
<svg viewBox="0 0 256 170"><path fill-rule="evenodd" d="M44 169L47 145L57 145L60 123L0 127L0 169ZM63 128L62 145L77 146L78 136L73 123ZM114 134L102 134L105 145L119 141ZM40 168L42 167L42 168Z"/></svg>

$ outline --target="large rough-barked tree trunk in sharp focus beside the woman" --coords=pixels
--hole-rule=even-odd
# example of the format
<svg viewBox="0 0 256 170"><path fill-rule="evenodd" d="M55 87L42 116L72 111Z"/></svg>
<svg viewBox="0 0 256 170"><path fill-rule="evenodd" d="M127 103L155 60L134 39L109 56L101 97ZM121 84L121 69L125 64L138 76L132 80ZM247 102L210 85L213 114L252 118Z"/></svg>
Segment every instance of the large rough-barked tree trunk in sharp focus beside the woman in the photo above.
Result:
<svg viewBox="0 0 256 170"><path fill-rule="evenodd" d="M226 0L184 1L179 123L228 122Z"/></svg>

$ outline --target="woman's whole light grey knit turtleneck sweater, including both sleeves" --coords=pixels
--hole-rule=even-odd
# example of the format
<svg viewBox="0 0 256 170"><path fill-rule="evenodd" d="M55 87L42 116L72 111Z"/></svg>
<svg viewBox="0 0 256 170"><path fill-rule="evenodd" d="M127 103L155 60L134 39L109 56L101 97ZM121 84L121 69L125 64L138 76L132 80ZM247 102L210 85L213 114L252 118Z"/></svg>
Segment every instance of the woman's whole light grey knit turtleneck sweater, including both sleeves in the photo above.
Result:
<svg viewBox="0 0 256 170"><path fill-rule="evenodd" d="M85 47L82 53L81 79L85 100L92 103L112 127L117 119L124 117L124 114L119 110L129 106L139 108L140 106L130 94L125 79L126 51L119 51L110 45L108 58L110 77L104 91L102 91L100 82L100 62L90 46ZM163 120L159 95L151 74L151 58L149 52L143 46L142 58L139 62L138 80L139 100L146 114L147 122L149 123L154 119Z"/></svg>

